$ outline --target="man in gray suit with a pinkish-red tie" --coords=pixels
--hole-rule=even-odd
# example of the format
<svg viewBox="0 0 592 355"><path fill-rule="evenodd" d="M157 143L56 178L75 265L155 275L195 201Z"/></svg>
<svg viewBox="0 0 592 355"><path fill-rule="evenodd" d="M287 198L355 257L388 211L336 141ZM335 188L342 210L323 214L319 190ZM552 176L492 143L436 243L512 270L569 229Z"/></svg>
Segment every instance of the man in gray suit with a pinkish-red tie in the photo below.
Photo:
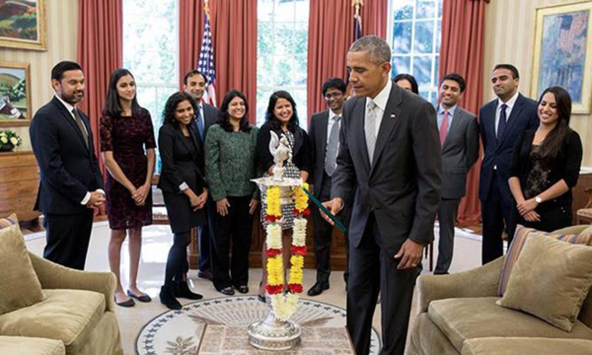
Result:
<svg viewBox="0 0 592 355"><path fill-rule="evenodd" d="M454 222L458 205L465 195L466 173L479 156L477 118L457 105L465 88L465 79L456 73L447 74L440 80L437 124L442 144L442 199L438 208L440 241L436 275L447 274L452 262Z"/></svg>

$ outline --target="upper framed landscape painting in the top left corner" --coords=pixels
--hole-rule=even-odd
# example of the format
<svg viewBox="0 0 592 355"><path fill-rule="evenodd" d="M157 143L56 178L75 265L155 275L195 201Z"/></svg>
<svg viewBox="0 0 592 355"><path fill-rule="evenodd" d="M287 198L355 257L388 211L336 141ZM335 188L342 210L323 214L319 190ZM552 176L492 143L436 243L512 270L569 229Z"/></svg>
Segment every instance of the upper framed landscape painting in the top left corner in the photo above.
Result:
<svg viewBox="0 0 592 355"><path fill-rule="evenodd" d="M0 47L47 50L45 0L0 0Z"/></svg>

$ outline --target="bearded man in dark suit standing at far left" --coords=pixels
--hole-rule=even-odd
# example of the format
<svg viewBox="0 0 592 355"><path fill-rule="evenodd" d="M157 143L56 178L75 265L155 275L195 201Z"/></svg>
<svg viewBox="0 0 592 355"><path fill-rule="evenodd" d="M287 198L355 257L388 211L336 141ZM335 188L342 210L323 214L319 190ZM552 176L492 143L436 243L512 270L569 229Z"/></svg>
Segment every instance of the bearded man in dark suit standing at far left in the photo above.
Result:
<svg viewBox="0 0 592 355"><path fill-rule="evenodd" d="M52 86L56 95L36 112L29 128L41 172L34 209L44 214L43 256L83 270L92 218L105 202L103 178L88 117L76 108L84 95L82 68L75 62L57 63Z"/></svg>

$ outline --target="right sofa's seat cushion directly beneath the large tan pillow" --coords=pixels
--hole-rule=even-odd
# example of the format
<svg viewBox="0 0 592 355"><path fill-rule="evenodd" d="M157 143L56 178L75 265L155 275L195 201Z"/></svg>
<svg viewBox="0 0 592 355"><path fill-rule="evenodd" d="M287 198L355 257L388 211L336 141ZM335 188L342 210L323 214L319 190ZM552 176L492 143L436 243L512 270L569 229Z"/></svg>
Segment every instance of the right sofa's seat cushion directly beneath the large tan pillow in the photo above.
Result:
<svg viewBox="0 0 592 355"><path fill-rule="evenodd" d="M427 315L460 353L464 341L484 337L543 337L592 340L576 321L570 333L530 314L496 305L497 297L448 298L430 302Z"/></svg>

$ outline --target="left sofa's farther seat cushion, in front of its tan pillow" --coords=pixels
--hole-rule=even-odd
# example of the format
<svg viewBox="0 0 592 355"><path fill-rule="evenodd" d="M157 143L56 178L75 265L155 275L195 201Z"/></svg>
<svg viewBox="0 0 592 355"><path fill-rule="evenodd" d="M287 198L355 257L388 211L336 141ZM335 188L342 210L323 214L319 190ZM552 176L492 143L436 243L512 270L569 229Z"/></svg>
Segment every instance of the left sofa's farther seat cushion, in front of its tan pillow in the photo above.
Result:
<svg viewBox="0 0 592 355"><path fill-rule="evenodd" d="M46 289L47 298L0 315L0 334L61 340L76 353L105 312L105 296L85 290Z"/></svg>

